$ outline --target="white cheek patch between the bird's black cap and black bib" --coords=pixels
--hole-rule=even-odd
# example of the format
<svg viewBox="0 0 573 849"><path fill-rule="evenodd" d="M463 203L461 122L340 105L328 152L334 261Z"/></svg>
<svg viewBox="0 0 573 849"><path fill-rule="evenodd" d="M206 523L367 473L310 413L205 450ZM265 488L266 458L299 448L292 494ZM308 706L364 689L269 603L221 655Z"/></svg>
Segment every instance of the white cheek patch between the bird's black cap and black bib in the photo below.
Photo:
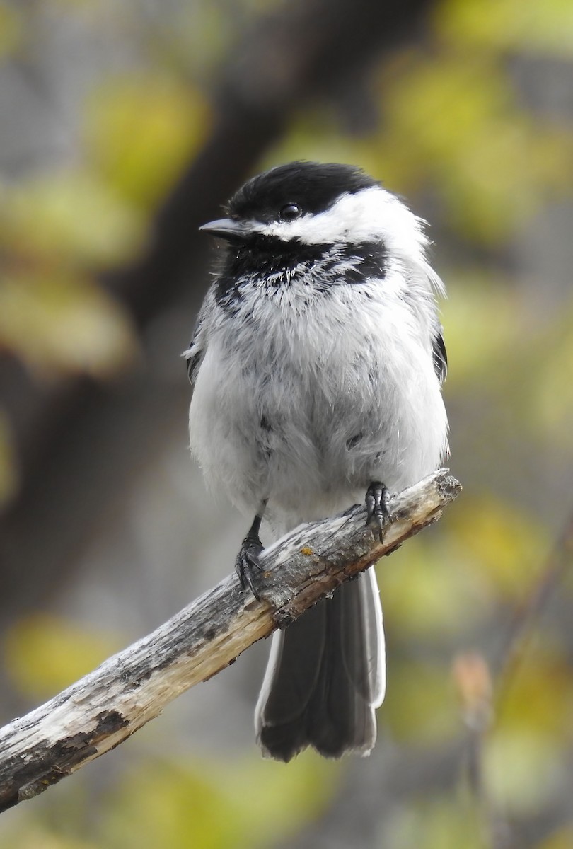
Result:
<svg viewBox="0 0 573 849"><path fill-rule="evenodd" d="M301 239L306 245L383 241L390 252L414 257L423 254L428 245L423 223L394 194L373 186L356 194L343 194L318 215L258 224L256 231L284 241Z"/></svg>

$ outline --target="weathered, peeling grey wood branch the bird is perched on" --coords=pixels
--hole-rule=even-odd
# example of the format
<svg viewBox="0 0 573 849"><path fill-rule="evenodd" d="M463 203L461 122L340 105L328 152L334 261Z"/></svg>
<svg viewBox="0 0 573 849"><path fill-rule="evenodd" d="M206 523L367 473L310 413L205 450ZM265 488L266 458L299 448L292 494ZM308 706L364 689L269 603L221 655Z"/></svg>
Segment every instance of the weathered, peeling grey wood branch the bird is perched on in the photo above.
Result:
<svg viewBox="0 0 573 849"><path fill-rule="evenodd" d="M430 525L461 486L440 469L391 499L384 542L365 509L302 525L261 555L261 601L226 578L154 633L0 730L0 811L31 799L158 716L168 702L285 627Z"/></svg>

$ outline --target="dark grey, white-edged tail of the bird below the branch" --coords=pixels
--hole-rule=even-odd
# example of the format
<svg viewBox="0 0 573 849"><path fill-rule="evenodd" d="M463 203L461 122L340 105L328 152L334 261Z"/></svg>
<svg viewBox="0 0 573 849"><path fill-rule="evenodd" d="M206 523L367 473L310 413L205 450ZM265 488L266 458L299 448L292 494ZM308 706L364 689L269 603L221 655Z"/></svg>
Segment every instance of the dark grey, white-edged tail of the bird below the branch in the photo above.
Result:
<svg viewBox="0 0 573 849"><path fill-rule="evenodd" d="M288 762L310 745L325 757L367 755L384 690L382 611L370 569L274 635L255 715L263 754Z"/></svg>

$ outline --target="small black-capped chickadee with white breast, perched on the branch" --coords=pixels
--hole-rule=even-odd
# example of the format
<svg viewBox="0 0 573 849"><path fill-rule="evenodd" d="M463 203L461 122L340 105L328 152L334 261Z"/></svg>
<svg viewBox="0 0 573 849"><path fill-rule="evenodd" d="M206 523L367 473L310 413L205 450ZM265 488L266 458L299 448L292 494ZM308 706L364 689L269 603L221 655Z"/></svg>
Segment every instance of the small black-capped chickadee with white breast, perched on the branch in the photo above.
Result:
<svg viewBox="0 0 573 849"><path fill-rule="evenodd" d="M306 160L250 178L200 229L214 278L184 357L190 447L250 517L235 568L256 597L261 522L275 537L388 499L448 454L447 372L425 222L357 166ZM374 567L273 634L256 713L263 756L368 755L385 695Z"/></svg>

